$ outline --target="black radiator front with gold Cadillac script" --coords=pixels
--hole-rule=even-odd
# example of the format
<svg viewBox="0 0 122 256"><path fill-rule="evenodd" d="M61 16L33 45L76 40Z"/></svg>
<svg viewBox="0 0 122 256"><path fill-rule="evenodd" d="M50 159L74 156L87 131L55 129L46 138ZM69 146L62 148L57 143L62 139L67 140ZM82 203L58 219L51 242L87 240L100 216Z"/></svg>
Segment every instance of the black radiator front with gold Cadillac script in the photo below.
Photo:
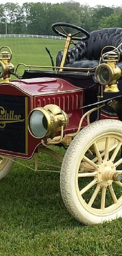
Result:
<svg viewBox="0 0 122 256"><path fill-rule="evenodd" d="M27 153L27 98L0 95L0 150Z"/></svg>

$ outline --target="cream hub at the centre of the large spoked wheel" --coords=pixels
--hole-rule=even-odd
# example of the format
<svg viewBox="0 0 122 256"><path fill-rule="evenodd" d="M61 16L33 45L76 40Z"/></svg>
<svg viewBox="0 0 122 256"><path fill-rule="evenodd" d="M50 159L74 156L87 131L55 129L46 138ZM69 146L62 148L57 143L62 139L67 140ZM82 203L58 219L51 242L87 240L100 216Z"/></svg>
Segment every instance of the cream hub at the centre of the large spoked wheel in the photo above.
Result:
<svg viewBox="0 0 122 256"><path fill-rule="evenodd" d="M113 162L104 161L98 168L97 178L102 186L111 185L113 181L120 181L122 175L116 171Z"/></svg>

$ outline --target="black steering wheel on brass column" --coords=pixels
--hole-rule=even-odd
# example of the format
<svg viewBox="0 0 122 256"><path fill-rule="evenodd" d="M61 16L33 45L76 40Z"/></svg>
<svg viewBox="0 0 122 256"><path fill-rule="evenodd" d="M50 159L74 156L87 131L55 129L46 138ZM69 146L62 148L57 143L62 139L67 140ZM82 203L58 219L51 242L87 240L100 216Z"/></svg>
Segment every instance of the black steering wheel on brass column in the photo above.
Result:
<svg viewBox="0 0 122 256"><path fill-rule="evenodd" d="M60 29L61 29L63 32L59 31L59 30L58 30L58 27L60 27ZM77 30L77 31L76 31L75 33L73 33L73 34L69 34L69 33L67 33L67 32L65 31L65 29L64 29L63 27L71 27L71 28L74 28L74 29ZM57 22L57 23L54 23L54 24L52 24L52 30L53 30L56 34L58 34L58 35L60 35L60 36L63 36L64 38L67 38L68 36L70 36L71 39L73 39L73 40L87 40L87 39L89 39L89 37L90 37L90 34L89 34L88 31L86 31L85 29L83 29L83 28L81 28L81 27L78 27L78 26L76 26L76 25L70 24L70 23L64 23L64 22ZM79 34L79 33L81 33L81 32L82 32L83 34L85 34L84 37L76 37L76 36L75 36L75 35L77 35L77 34Z"/></svg>

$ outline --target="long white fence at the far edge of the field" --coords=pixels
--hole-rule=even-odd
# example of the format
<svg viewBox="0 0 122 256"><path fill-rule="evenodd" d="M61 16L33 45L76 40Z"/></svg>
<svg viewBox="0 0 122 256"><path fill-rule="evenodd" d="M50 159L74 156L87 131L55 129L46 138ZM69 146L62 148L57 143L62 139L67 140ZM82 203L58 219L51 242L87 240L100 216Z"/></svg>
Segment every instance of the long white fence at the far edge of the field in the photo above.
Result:
<svg viewBox="0 0 122 256"><path fill-rule="evenodd" d="M65 39L62 36L48 36L48 35L27 35L27 34L0 34L0 37L22 37L22 38L50 38L50 39Z"/></svg>

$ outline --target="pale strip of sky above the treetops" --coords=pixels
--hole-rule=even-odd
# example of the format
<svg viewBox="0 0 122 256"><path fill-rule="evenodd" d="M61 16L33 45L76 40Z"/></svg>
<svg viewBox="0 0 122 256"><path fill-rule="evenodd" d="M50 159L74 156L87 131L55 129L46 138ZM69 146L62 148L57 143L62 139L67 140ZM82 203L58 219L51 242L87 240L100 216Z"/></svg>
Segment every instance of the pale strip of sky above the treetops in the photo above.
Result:
<svg viewBox="0 0 122 256"><path fill-rule="evenodd" d="M11 3L18 3L19 5L22 5L25 2L51 2L51 3L61 3L61 2L66 2L67 0L0 0L0 4L5 4L6 2L11 2ZM75 0L75 2L79 2L81 5L82 4L88 4L90 6L95 6L95 5L105 5L105 6L120 6L122 5L121 0Z"/></svg>

